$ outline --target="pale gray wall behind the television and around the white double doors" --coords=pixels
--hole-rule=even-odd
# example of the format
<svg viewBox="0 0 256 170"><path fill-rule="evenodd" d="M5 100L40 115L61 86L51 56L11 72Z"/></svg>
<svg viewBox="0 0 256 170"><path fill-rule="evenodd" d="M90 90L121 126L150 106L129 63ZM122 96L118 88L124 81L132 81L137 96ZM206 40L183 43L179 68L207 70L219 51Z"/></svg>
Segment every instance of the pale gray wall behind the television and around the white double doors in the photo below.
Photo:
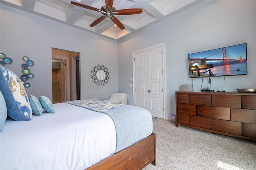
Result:
<svg viewBox="0 0 256 170"><path fill-rule="evenodd" d="M256 1L205 1L118 42L118 90L132 104L132 52L166 42L166 115L175 113L175 91L188 78L188 54L247 43L248 75L212 78L212 89L256 88ZM193 79L200 91L202 79ZM203 79L202 88L207 87ZM210 85L208 85L210 87ZM167 117L168 118L168 117Z"/></svg>

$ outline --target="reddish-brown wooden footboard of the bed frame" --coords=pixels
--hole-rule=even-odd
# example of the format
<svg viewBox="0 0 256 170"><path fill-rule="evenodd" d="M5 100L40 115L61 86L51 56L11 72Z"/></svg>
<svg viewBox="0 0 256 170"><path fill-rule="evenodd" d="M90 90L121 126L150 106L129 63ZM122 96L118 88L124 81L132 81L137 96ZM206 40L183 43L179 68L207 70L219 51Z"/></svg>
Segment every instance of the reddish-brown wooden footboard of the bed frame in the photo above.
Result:
<svg viewBox="0 0 256 170"><path fill-rule="evenodd" d="M154 133L86 170L142 170L151 162L156 166L156 134Z"/></svg>

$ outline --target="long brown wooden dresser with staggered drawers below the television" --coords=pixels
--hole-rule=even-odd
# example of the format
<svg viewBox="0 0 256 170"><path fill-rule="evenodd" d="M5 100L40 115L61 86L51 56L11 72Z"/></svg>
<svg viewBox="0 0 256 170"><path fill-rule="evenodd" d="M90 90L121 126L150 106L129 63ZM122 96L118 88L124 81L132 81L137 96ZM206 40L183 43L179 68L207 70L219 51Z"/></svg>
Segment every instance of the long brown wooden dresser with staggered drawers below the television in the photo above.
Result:
<svg viewBox="0 0 256 170"><path fill-rule="evenodd" d="M178 125L256 141L256 93L176 91Z"/></svg>

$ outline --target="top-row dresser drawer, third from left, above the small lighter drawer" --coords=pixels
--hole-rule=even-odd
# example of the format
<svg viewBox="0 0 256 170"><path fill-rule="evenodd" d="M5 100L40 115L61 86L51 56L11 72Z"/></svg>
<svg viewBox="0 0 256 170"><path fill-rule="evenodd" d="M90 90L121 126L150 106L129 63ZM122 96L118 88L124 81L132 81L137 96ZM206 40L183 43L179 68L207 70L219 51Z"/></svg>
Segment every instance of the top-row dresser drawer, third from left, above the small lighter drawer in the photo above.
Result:
<svg viewBox="0 0 256 170"><path fill-rule="evenodd" d="M212 95L212 106L241 109L240 95Z"/></svg>

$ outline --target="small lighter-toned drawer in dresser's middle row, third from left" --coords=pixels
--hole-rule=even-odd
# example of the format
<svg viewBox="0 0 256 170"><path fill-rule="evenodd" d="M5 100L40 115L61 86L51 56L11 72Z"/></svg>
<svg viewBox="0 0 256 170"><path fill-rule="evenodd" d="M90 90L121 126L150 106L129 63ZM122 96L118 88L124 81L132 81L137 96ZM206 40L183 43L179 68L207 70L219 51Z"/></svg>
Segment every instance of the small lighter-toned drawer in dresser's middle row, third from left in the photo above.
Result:
<svg viewBox="0 0 256 170"><path fill-rule="evenodd" d="M212 118L230 121L230 108L212 107Z"/></svg>

